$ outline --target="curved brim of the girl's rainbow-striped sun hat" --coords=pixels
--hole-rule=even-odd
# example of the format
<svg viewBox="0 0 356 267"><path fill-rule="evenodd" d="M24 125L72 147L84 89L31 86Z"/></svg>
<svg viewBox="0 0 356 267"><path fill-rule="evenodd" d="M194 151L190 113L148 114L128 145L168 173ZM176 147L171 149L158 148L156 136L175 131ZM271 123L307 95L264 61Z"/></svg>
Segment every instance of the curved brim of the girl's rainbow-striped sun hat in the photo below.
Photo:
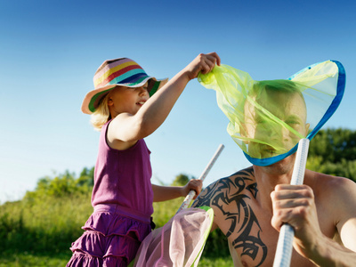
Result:
<svg viewBox="0 0 356 267"><path fill-rule="evenodd" d="M96 88L89 93L86 93L85 99L82 103L82 112L85 114L93 114L93 112L99 107L99 103L101 100L105 97L107 93L116 86L125 86L125 87L141 87L142 85L145 85L147 81L149 80L154 80L155 83L152 85L150 88L150 96L153 93L156 93L159 88L161 88L163 85L166 85L168 78L164 79L157 79L155 77L145 77L140 83L138 84L114 84L114 85L105 85L100 88Z"/></svg>

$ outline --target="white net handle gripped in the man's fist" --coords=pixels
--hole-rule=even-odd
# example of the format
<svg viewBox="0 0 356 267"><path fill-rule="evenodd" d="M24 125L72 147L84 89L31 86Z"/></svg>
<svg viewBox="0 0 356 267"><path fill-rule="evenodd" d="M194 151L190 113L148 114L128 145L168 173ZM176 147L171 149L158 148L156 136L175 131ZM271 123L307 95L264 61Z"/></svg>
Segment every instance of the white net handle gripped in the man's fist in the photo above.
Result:
<svg viewBox="0 0 356 267"><path fill-rule="evenodd" d="M296 150L295 166L290 184L303 184L306 158L308 157L309 139L301 139ZM279 231L276 255L273 267L289 267L293 251L295 231L289 224L283 224Z"/></svg>

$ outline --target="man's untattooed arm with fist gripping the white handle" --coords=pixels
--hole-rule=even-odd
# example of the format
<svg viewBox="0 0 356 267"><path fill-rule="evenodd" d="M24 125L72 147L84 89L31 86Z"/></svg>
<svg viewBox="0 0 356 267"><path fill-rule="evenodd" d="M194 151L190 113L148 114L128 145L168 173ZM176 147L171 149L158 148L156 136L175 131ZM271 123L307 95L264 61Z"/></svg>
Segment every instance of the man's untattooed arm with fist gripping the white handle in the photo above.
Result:
<svg viewBox="0 0 356 267"><path fill-rule="evenodd" d="M323 181L324 178L324 181ZM307 185L278 185L271 193L272 225L280 230L282 223L295 229L295 250L320 266L356 266L356 184L345 178L320 177L324 183L323 201L333 216L344 243L338 244L320 231L315 199Z"/></svg>

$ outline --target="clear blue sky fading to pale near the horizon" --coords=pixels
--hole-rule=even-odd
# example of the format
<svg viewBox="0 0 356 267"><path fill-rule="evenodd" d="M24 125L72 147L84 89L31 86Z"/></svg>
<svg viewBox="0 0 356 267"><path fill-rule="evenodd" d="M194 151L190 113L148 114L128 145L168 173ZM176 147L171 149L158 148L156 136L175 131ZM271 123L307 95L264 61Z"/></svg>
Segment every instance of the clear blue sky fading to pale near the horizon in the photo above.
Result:
<svg viewBox="0 0 356 267"><path fill-rule="evenodd" d="M0 203L45 175L95 164L99 133L80 111L102 61L129 57L173 77L198 53L255 80L287 78L312 63L346 69L344 100L326 127L356 129L354 1L0 1ZM205 185L249 166L226 133L215 94L191 81L146 139L153 182L198 177L220 143Z"/></svg>

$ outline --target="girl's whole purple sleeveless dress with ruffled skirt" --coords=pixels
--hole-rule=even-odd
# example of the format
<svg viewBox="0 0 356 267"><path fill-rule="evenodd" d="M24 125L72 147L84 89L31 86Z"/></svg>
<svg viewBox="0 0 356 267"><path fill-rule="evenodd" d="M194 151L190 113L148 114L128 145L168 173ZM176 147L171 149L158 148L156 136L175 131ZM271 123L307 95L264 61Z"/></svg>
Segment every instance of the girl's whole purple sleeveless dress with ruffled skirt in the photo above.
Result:
<svg viewBox="0 0 356 267"><path fill-rule="evenodd" d="M94 211L70 247L67 266L127 266L151 231L150 150L143 139L128 150L111 149L108 125L101 129L95 165Z"/></svg>

